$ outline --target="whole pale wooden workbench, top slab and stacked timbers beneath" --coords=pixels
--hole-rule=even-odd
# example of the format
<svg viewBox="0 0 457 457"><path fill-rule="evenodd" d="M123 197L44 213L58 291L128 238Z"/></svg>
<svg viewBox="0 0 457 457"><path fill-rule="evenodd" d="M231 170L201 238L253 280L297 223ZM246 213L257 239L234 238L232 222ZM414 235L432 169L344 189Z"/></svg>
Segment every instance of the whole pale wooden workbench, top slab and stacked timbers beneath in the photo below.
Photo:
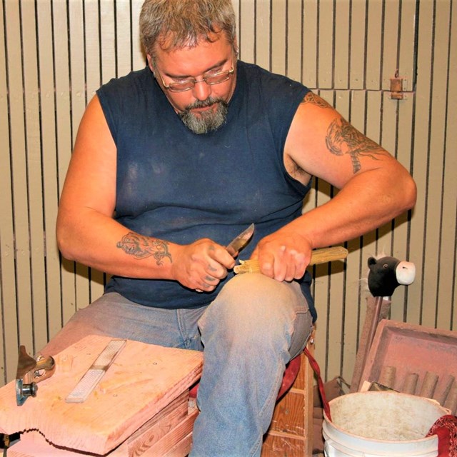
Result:
<svg viewBox="0 0 457 457"><path fill-rule="evenodd" d="M127 341L84 403L66 403L111 338L88 336L55 356L56 372L16 406L14 381L0 388L0 433L20 433L9 457L185 456L197 415L189 386L203 355Z"/></svg>

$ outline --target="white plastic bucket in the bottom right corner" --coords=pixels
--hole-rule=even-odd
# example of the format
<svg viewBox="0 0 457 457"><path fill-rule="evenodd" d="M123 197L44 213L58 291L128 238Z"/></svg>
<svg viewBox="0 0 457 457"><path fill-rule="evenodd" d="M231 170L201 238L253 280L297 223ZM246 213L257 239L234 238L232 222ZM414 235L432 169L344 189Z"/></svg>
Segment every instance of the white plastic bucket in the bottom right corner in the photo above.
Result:
<svg viewBox="0 0 457 457"><path fill-rule="evenodd" d="M326 457L436 457L438 437L424 438L448 414L435 401L396 392L348 393L324 414Z"/></svg>

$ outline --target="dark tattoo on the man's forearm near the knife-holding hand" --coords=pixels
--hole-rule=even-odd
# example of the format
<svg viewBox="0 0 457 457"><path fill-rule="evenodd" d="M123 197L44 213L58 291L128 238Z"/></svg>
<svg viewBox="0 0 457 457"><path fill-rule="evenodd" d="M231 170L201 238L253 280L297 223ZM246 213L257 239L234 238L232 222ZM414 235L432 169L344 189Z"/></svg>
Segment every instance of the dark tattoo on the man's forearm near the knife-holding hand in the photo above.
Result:
<svg viewBox="0 0 457 457"><path fill-rule="evenodd" d="M129 231L116 244L116 247L122 249L129 256L134 258L154 257L157 265L164 263L164 258L168 258L173 262L171 253L169 253L169 243L149 236L142 236L133 231Z"/></svg>

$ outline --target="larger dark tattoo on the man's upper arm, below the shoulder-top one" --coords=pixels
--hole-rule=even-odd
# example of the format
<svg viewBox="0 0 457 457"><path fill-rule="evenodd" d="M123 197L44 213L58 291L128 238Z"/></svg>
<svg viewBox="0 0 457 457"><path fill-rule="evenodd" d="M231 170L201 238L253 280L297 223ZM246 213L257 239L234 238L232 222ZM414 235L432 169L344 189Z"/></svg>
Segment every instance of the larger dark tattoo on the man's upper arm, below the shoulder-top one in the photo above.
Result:
<svg viewBox="0 0 457 457"><path fill-rule="evenodd" d="M326 145L328 151L336 156L349 154L354 174L361 169L359 160L361 156L368 156L373 160L379 160L378 156L386 154L386 151L381 146L361 134L361 132L351 126L342 117L335 119L328 126Z"/></svg>

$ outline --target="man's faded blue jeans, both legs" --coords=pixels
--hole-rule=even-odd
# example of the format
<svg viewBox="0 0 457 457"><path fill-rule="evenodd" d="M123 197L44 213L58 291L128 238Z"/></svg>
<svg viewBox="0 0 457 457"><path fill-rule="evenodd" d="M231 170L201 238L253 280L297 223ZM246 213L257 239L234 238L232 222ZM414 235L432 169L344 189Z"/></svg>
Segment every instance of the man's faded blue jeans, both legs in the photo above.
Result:
<svg viewBox="0 0 457 457"><path fill-rule="evenodd" d="M250 457L260 456L286 363L311 329L298 283L247 273L196 309L139 306L106 293L77 311L41 353L90 334L204 351L191 457Z"/></svg>

